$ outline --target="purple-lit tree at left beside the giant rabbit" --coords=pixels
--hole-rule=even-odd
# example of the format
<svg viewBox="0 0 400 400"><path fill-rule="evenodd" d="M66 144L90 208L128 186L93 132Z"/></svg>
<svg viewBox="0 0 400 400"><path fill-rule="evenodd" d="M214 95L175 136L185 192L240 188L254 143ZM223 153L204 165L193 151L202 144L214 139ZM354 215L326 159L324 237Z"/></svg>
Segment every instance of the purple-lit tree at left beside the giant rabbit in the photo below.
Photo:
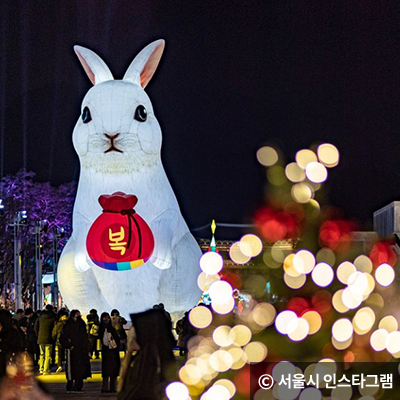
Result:
<svg viewBox="0 0 400 400"><path fill-rule="evenodd" d="M10 283L14 270L14 218L17 212L27 212L26 224L20 226L22 245L22 295L29 302L35 284L35 224L48 221L46 232L42 232L41 245L44 269L53 264L53 234L64 230L71 233L72 207L76 193L75 183L59 187L48 182L35 182L35 174L20 170L1 180L1 199L4 208L0 216L0 295L2 302L10 306ZM66 238L59 238L59 250Z"/></svg>

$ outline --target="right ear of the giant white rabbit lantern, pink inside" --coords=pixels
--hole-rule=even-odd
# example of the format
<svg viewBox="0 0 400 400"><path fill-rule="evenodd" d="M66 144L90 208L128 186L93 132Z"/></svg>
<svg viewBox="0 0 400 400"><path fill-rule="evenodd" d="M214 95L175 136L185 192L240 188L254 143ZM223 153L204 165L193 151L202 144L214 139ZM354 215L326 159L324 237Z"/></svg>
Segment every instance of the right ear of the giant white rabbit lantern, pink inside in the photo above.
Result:
<svg viewBox="0 0 400 400"><path fill-rule="evenodd" d="M153 77L164 51L165 41L156 40L146 46L125 72L124 81L137 83L144 89Z"/></svg>

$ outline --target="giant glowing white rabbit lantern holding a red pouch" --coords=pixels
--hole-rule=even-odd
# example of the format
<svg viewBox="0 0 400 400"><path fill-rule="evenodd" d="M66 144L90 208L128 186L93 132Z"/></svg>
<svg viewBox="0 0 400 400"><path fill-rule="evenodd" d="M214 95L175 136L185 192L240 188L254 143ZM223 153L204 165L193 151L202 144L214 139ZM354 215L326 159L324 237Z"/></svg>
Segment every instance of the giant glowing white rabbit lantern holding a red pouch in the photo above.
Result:
<svg viewBox="0 0 400 400"><path fill-rule="evenodd" d="M81 173L73 233L58 266L64 301L70 309L85 313L91 308L117 308L129 315L160 302L170 312L188 310L200 298L197 276L201 251L162 166L161 129L144 91L158 66L164 41L145 47L122 80L114 80L104 61L91 50L80 46L74 49L94 86L83 99L82 114L73 132ZM105 206L110 195L135 198L130 208L135 207L142 225L150 231L146 231L148 240L154 237L146 253L150 258L139 254L134 260L125 260L131 263L130 268L123 263L120 268L110 267L110 260L93 262L87 252L86 242L89 249L93 239L87 238L88 232L103 212L99 199ZM122 230L108 232L111 253L118 249L124 253L118 247L121 240L127 243Z"/></svg>

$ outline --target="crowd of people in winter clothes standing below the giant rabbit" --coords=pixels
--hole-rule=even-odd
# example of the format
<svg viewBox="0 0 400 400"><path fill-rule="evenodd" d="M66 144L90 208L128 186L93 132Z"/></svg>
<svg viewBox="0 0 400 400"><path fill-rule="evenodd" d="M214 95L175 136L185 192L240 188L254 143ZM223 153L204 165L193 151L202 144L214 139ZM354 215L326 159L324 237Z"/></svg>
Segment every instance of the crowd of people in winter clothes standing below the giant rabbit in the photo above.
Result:
<svg viewBox="0 0 400 400"><path fill-rule="evenodd" d="M127 321L115 309L100 317L92 309L86 322L79 310L62 308L56 313L51 305L40 312L21 309L14 315L0 310L0 378L6 374L10 356L27 352L39 374L64 369L66 390L81 393L84 379L91 376L90 358L100 359L101 355L102 393L116 393L120 376L119 399L135 399L147 392L149 399L156 399L162 392L161 382L176 376L173 347L177 344L184 356L196 330L185 313L176 324L176 342L171 316L163 304L130 317L132 327L127 334ZM125 354L122 366L121 351Z"/></svg>

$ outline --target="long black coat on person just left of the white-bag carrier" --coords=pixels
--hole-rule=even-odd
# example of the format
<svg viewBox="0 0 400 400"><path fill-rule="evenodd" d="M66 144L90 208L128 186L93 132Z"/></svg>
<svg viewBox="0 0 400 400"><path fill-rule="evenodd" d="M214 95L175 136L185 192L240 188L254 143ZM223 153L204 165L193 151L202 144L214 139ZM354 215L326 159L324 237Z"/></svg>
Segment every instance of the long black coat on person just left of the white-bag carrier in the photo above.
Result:
<svg viewBox="0 0 400 400"><path fill-rule="evenodd" d="M60 344L67 349L67 380L90 377L89 339L85 322L69 318L60 337Z"/></svg>

